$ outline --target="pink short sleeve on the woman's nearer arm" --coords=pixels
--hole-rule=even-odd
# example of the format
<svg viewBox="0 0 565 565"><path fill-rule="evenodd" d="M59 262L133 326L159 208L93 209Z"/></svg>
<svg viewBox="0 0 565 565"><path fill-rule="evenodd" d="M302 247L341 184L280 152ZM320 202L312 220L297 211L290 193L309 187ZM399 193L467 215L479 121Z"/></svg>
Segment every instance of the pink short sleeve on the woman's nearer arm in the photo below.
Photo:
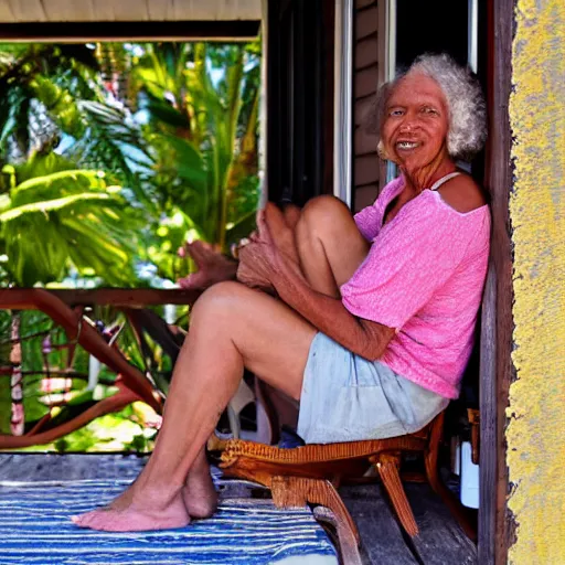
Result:
<svg viewBox="0 0 565 565"><path fill-rule="evenodd" d="M353 315L401 329L420 310L461 262L469 234L460 216L435 195L405 205L374 241L366 259L341 287Z"/></svg>

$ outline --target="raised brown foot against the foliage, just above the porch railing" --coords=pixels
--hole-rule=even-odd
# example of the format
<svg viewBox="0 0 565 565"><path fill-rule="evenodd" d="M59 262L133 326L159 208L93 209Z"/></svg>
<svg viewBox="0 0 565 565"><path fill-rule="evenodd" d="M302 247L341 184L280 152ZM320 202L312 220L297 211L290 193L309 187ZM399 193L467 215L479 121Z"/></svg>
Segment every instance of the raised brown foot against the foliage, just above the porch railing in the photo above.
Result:
<svg viewBox="0 0 565 565"><path fill-rule="evenodd" d="M179 255L190 255L199 268L198 273L178 280L181 288L203 290L215 282L235 278L237 264L216 252L209 243L186 243L179 249Z"/></svg>

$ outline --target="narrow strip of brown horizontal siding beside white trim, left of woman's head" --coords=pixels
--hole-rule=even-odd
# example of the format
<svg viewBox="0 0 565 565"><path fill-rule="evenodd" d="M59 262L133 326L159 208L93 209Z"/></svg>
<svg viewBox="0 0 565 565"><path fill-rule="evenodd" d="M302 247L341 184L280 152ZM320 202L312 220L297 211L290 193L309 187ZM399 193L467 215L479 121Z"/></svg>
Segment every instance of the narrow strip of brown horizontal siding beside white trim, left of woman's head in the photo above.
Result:
<svg viewBox="0 0 565 565"><path fill-rule="evenodd" d="M363 116L379 85L379 8L375 0L356 0L353 55L353 209L370 205L379 193L376 136L362 128Z"/></svg>

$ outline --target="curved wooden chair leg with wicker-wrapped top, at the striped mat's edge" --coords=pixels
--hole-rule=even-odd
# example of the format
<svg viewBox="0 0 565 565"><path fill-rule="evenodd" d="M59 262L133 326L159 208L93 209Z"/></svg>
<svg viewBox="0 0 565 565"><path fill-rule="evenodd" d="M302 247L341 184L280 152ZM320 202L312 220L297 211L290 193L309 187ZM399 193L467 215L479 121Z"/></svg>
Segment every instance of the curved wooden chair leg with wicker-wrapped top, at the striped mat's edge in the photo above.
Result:
<svg viewBox="0 0 565 565"><path fill-rule="evenodd" d="M305 507L310 502L330 509L335 516L335 530L343 563L355 565L361 562L359 555L361 539L358 527L330 481L303 477L273 477L270 490L273 502L279 508Z"/></svg>

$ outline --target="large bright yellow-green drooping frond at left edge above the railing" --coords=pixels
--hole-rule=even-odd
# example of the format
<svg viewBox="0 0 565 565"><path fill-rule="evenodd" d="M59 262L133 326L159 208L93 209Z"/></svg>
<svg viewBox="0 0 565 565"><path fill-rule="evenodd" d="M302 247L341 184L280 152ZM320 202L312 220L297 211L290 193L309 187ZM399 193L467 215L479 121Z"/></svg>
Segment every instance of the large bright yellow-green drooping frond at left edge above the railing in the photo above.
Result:
<svg viewBox="0 0 565 565"><path fill-rule="evenodd" d="M0 241L20 286L61 280L74 266L107 284L135 280L139 220L99 171L61 171L28 179L0 212ZM22 237L21 234L25 234Z"/></svg>

